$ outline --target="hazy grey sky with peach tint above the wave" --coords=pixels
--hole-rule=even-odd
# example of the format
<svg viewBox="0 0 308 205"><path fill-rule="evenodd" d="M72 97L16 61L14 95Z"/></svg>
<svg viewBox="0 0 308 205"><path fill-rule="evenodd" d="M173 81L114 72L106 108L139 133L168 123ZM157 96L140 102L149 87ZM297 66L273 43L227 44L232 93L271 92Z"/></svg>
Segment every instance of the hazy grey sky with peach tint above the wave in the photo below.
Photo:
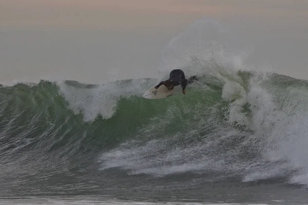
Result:
<svg viewBox="0 0 308 205"><path fill-rule="evenodd" d="M0 82L158 77L164 49L205 16L254 50L255 69L308 79L307 10L302 0L1 0Z"/></svg>

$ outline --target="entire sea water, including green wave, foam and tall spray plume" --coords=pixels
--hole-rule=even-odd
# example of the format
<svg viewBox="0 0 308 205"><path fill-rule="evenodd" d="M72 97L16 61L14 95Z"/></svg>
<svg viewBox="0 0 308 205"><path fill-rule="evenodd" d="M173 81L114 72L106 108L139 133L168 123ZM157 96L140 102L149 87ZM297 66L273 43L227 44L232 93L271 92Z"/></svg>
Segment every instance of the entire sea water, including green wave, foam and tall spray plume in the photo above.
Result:
<svg viewBox="0 0 308 205"><path fill-rule="evenodd" d="M226 33L197 20L160 79L2 85L0 204L303 203L308 81L246 66ZM186 95L141 97L175 68Z"/></svg>

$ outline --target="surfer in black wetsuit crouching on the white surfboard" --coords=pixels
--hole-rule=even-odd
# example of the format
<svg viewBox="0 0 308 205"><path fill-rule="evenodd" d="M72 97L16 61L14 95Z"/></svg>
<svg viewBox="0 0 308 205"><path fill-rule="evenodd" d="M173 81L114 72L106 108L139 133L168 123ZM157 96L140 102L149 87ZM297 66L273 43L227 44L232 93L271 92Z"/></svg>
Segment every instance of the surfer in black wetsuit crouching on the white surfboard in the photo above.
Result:
<svg viewBox="0 0 308 205"><path fill-rule="evenodd" d="M187 83L191 83L194 80L196 80L196 76L192 76L187 80L181 69L175 69L170 72L169 79L161 81L157 86L155 86L155 89L158 89L161 85L164 85L168 90L172 90L175 86L179 86L181 84L182 93L185 95Z"/></svg>

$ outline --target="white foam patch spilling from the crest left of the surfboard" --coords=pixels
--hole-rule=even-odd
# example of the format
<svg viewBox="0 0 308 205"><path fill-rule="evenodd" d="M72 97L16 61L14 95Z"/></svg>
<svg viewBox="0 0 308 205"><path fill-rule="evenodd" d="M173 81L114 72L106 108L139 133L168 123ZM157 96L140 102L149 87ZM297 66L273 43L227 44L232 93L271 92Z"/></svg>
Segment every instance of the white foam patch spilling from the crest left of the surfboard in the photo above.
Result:
<svg viewBox="0 0 308 205"><path fill-rule="evenodd" d="M83 113L85 121L93 121L98 116L110 119L123 97L140 96L148 89L148 84L153 83L154 79L132 79L96 85L91 89L72 87L64 82L57 85L60 93L68 101L70 109L75 114Z"/></svg>

